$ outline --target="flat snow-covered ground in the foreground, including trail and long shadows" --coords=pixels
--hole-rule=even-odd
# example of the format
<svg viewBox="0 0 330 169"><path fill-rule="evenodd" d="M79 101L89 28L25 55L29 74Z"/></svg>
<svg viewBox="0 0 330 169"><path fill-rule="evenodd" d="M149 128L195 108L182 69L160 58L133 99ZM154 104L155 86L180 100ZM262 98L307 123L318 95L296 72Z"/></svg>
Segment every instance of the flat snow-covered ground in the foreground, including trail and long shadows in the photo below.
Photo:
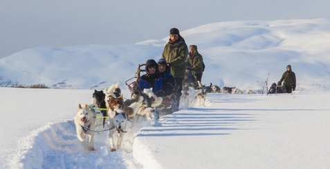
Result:
<svg viewBox="0 0 330 169"><path fill-rule="evenodd" d="M329 92L209 94L84 152L75 135L78 103L92 90L0 88L1 168L329 168Z"/></svg>

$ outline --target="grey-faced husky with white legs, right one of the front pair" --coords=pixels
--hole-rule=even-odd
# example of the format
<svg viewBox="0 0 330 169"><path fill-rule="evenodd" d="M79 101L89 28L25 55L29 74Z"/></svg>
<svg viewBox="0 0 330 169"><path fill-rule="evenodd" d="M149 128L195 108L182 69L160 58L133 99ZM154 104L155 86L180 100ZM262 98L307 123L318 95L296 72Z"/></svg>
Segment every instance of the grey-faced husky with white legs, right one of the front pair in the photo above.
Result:
<svg viewBox="0 0 330 169"><path fill-rule="evenodd" d="M116 151L116 148L119 149L122 142L122 134L126 131L123 130L127 123L127 118L122 109L114 109L113 112L109 113L109 142L111 147L111 152ZM113 141L113 134L117 132L116 144Z"/></svg>

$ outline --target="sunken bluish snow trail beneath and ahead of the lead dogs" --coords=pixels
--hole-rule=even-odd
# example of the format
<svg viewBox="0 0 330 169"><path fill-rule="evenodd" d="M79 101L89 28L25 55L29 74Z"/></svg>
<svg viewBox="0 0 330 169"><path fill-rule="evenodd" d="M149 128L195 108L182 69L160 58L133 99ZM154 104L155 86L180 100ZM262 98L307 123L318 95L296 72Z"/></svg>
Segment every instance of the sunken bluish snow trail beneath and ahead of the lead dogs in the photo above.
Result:
<svg viewBox="0 0 330 169"><path fill-rule="evenodd" d="M108 152L108 132L95 134L95 152L86 152L73 120L49 123L19 141L12 166L23 168L141 168L131 155L128 132L121 150ZM106 148L106 150L104 150Z"/></svg>

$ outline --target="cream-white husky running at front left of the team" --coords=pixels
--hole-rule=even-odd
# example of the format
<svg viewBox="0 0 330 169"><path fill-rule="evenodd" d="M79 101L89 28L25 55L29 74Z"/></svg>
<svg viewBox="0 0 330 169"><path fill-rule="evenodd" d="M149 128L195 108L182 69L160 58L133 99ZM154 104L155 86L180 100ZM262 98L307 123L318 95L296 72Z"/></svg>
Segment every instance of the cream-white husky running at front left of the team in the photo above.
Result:
<svg viewBox="0 0 330 169"><path fill-rule="evenodd" d="M80 104L78 106L78 111L75 115L75 130L82 146L86 150L94 151L95 118L87 104L84 107ZM88 144L84 141L86 135L89 136Z"/></svg>

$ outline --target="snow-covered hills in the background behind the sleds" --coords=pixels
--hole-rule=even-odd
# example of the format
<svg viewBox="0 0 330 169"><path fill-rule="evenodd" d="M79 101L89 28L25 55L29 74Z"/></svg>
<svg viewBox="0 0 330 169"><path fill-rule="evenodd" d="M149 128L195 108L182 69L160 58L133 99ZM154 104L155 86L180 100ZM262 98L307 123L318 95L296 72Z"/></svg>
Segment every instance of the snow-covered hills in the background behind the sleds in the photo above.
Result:
<svg viewBox="0 0 330 169"><path fill-rule="evenodd" d="M187 45L196 44L206 69L203 84L262 89L277 82L286 65L297 76L297 91L329 91L330 21L301 19L229 21L181 30ZM104 89L134 76L138 64L158 60L164 39L125 46L39 47L0 59L5 80L46 84L62 89Z"/></svg>

